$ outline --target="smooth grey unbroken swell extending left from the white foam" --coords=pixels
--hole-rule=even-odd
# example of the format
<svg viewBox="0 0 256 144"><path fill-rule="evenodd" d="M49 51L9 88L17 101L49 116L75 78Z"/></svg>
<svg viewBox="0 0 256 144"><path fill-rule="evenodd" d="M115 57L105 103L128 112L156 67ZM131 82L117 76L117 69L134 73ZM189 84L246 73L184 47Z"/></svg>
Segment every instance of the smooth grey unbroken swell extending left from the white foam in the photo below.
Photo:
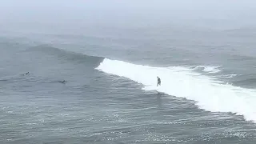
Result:
<svg viewBox="0 0 256 144"><path fill-rule="evenodd" d="M46 58L52 56L63 62L86 63L98 66L104 58L77 53L70 50L50 46L48 44L37 44L39 42L29 42L26 38L5 38L0 36L0 50L4 54L33 54ZM42 43L42 42L40 42Z"/></svg>

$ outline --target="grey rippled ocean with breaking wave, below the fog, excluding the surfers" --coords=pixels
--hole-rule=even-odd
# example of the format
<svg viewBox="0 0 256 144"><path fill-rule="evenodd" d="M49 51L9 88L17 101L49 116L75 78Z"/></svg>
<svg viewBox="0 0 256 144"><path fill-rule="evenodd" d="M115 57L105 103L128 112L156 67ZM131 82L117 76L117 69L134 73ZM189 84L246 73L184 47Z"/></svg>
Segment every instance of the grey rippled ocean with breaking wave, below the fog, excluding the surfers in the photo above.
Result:
<svg viewBox="0 0 256 144"><path fill-rule="evenodd" d="M254 31L2 31L0 143L254 144Z"/></svg>

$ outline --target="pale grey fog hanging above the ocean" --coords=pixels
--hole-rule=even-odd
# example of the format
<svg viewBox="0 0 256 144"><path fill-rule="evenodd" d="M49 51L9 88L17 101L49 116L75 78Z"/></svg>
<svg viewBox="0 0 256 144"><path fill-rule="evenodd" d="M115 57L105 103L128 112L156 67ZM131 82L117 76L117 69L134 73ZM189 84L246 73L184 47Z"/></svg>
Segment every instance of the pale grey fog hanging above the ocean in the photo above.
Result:
<svg viewBox="0 0 256 144"><path fill-rule="evenodd" d="M256 24L255 8L255 0L2 0L0 30L235 29Z"/></svg>

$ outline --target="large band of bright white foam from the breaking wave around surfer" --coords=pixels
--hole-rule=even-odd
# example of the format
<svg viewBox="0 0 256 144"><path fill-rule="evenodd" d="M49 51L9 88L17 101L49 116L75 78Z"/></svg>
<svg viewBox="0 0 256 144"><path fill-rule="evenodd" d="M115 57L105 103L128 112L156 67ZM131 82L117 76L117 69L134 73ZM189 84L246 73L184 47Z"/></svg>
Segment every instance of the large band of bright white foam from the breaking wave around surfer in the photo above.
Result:
<svg viewBox="0 0 256 144"><path fill-rule="evenodd" d="M256 90L226 85L191 68L141 66L105 58L96 69L142 83L143 90L158 90L188 98L197 101L204 110L232 112L256 122ZM162 86L156 86L157 76L161 78Z"/></svg>

